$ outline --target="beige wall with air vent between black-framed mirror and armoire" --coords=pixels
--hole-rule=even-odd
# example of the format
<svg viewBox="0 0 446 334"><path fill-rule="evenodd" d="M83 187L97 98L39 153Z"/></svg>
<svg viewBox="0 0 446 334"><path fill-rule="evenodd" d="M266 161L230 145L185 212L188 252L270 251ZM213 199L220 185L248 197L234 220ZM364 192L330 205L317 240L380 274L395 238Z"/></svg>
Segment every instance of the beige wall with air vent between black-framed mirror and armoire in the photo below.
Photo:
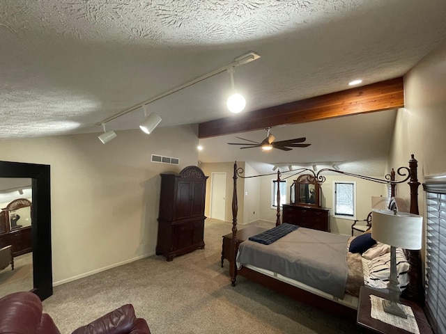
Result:
<svg viewBox="0 0 446 334"><path fill-rule="evenodd" d="M51 165L54 283L155 253L160 173L197 165L197 127L0 141L0 160ZM180 166L151 162L151 154Z"/></svg>

